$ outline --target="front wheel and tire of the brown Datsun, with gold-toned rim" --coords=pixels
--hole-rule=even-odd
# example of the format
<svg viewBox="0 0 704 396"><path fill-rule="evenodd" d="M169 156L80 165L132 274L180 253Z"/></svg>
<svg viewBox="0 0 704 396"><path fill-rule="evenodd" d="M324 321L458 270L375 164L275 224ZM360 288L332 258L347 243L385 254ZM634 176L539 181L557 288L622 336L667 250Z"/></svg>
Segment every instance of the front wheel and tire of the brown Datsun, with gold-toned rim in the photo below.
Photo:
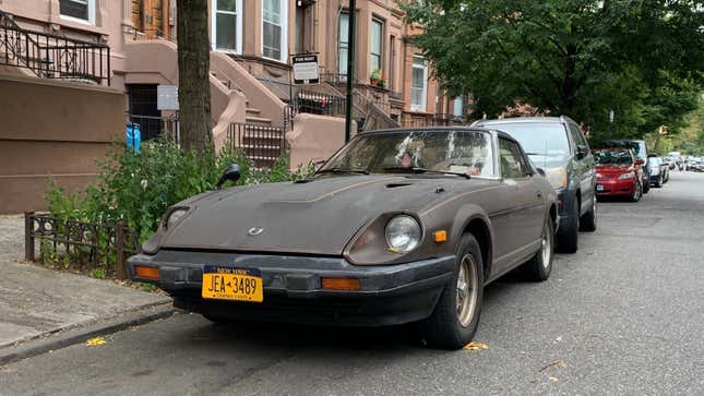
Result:
<svg viewBox="0 0 704 396"><path fill-rule="evenodd" d="M464 300L457 303L462 295L465 296ZM444 286L430 317L422 323L428 345L443 349L460 349L469 344L479 324L482 302L481 250L474 236L465 233L457 248L457 264L452 279Z"/></svg>

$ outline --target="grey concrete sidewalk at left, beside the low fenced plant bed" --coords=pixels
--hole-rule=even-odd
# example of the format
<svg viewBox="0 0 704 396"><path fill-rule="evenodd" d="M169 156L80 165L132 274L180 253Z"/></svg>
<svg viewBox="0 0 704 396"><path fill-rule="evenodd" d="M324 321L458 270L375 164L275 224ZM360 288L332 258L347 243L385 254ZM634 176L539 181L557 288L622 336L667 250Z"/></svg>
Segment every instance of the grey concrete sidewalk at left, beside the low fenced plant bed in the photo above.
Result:
<svg viewBox="0 0 704 396"><path fill-rule="evenodd" d="M24 218L0 216L0 361L27 340L63 332L80 337L81 328L93 334L102 322L117 328L120 317L134 321L141 311L172 312L167 296L46 269L23 263L23 255Z"/></svg>

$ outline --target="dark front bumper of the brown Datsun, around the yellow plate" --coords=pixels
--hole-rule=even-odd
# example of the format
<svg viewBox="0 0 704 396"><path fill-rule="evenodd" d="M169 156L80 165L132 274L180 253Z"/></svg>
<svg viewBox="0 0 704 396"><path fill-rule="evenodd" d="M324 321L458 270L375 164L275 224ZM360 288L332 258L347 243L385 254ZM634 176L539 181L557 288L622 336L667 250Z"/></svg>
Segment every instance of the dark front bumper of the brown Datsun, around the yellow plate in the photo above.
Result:
<svg viewBox="0 0 704 396"><path fill-rule="evenodd" d="M132 280L167 291L175 305L206 315L236 320L321 325L383 326L428 317L451 279L454 255L398 265L351 265L343 257L219 252L160 251L128 260ZM135 276L134 266L157 267L159 280ZM201 297L204 265L256 268L262 274L261 303ZM356 277L361 290L324 290L321 277Z"/></svg>

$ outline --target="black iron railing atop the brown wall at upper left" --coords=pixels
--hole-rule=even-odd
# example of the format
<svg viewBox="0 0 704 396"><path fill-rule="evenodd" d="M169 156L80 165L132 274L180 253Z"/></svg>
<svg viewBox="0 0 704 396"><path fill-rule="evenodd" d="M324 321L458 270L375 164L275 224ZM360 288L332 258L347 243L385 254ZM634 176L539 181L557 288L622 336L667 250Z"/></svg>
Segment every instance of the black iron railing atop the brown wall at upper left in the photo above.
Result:
<svg viewBox="0 0 704 396"><path fill-rule="evenodd" d="M25 29L2 12L0 64L29 69L44 79L110 85L110 47Z"/></svg>

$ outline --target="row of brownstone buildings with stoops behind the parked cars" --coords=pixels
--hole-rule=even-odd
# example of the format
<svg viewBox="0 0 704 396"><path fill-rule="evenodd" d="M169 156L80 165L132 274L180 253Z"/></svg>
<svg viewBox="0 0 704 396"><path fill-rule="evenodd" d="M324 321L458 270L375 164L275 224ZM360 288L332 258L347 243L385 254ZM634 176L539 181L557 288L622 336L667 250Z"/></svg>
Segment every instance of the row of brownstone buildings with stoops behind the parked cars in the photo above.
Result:
<svg viewBox="0 0 704 396"><path fill-rule="evenodd" d="M344 143L348 1L207 1L216 145L235 139L258 165L330 156ZM49 175L84 187L126 123L143 139L178 134L175 112L157 99L160 85L178 85L175 5L0 0L0 213L41 208ZM463 122L465 100L432 79L406 39L420 29L396 1L358 0L355 12L357 129ZM301 52L318 53L320 84L290 84L290 56ZM50 122L27 127L41 119Z"/></svg>

